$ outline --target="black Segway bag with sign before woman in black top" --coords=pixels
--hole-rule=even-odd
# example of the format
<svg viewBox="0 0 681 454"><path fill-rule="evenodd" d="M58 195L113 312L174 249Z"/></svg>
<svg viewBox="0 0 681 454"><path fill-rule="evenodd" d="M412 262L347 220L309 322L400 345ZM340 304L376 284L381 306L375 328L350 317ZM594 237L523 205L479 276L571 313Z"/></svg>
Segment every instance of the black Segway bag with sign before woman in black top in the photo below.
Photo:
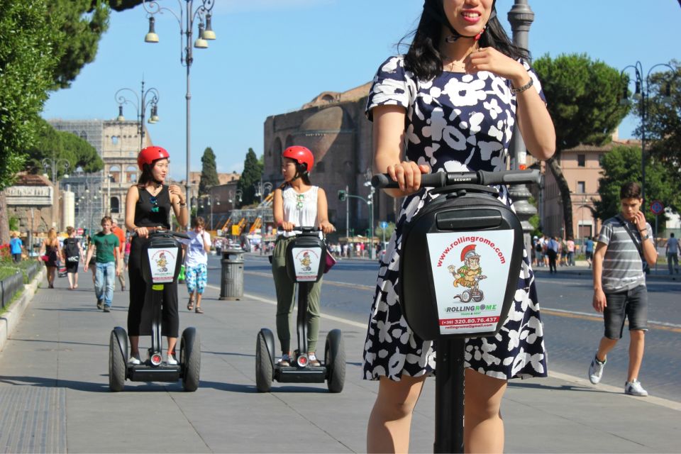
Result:
<svg viewBox="0 0 681 454"><path fill-rule="evenodd" d="M182 267L182 245L174 236L154 235L142 246L142 277L147 284L170 284Z"/></svg>

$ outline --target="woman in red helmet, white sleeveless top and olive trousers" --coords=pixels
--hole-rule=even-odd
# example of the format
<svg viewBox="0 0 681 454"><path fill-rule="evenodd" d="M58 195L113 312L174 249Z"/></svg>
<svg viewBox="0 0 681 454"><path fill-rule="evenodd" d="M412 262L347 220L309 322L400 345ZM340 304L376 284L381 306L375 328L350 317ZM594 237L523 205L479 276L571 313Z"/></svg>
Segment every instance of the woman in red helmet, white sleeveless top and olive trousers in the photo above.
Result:
<svg viewBox="0 0 681 454"><path fill-rule="evenodd" d="M314 165L312 152L305 147L292 146L282 153L284 184L275 189L272 201L275 223L279 236L272 254L272 275L277 290L277 336L282 344L280 365L289 365L291 358L290 318L293 310L295 284L286 273L286 247L296 236L296 226L319 226L323 233L336 228L328 222L326 193L321 187L312 186L310 171ZM320 365L315 355L319 334L319 294L321 281L312 285L309 294L307 345L310 365Z"/></svg>

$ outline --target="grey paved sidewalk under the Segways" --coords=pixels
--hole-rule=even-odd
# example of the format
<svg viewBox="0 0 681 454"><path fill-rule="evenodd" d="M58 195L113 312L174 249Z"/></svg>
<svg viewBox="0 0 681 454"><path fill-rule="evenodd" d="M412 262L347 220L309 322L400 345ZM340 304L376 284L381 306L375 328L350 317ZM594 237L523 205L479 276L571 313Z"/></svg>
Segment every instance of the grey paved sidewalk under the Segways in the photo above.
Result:
<svg viewBox="0 0 681 454"><path fill-rule="evenodd" d="M206 289L205 314L180 299L180 329L201 336L201 384L126 382L109 391L109 333L126 326L128 293L96 309L92 281L43 281L0 352L0 450L70 453L346 453L365 451L377 383L361 380L362 323L325 316L341 328L345 389L279 384L255 391L258 330L274 329L274 301L245 295L220 301ZM248 278L248 277L247 277ZM11 316L11 315L10 315ZM321 341L323 342L323 341ZM323 344L322 344L323 345ZM148 346L143 338L142 348ZM322 348L320 347L320 350ZM586 375L585 364L584 375ZM434 382L428 380L411 426L411 452L432 452ZM502 406L509 453L677 453L681 403L629 397L621 388L550 374L513 380Z"/></svg>

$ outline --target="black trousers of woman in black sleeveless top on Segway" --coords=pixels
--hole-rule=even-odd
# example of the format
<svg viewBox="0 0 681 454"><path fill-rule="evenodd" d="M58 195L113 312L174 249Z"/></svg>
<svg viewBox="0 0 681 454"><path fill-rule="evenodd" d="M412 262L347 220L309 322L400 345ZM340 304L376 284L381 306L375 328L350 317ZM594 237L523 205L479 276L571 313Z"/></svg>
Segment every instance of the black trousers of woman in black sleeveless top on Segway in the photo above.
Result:
<svg viewBox="0 0 681 454"><path fill-rule="evenodd" d="M142 277L142 246L148 238L133 238L128 260L130 282L130 307L128 308L128 336L151 336L151 308L144 306L147 284ZM177 311L177 282L164 284L161 305L161 335L177 338L179 313Z"/></svg>

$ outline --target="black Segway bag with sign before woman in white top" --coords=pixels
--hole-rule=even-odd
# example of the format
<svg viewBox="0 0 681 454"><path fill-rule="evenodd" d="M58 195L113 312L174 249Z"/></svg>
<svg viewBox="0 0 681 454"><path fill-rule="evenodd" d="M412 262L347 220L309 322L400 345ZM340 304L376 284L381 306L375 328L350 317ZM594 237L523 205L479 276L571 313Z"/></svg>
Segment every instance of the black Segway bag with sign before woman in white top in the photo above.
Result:
<svg viewBox="0 0 681 454"><path fill-rule="evenodd" d="M326 264L326 245L319 233L299 234L286 247L286 272L292 282L317 282Z"/></svg>

